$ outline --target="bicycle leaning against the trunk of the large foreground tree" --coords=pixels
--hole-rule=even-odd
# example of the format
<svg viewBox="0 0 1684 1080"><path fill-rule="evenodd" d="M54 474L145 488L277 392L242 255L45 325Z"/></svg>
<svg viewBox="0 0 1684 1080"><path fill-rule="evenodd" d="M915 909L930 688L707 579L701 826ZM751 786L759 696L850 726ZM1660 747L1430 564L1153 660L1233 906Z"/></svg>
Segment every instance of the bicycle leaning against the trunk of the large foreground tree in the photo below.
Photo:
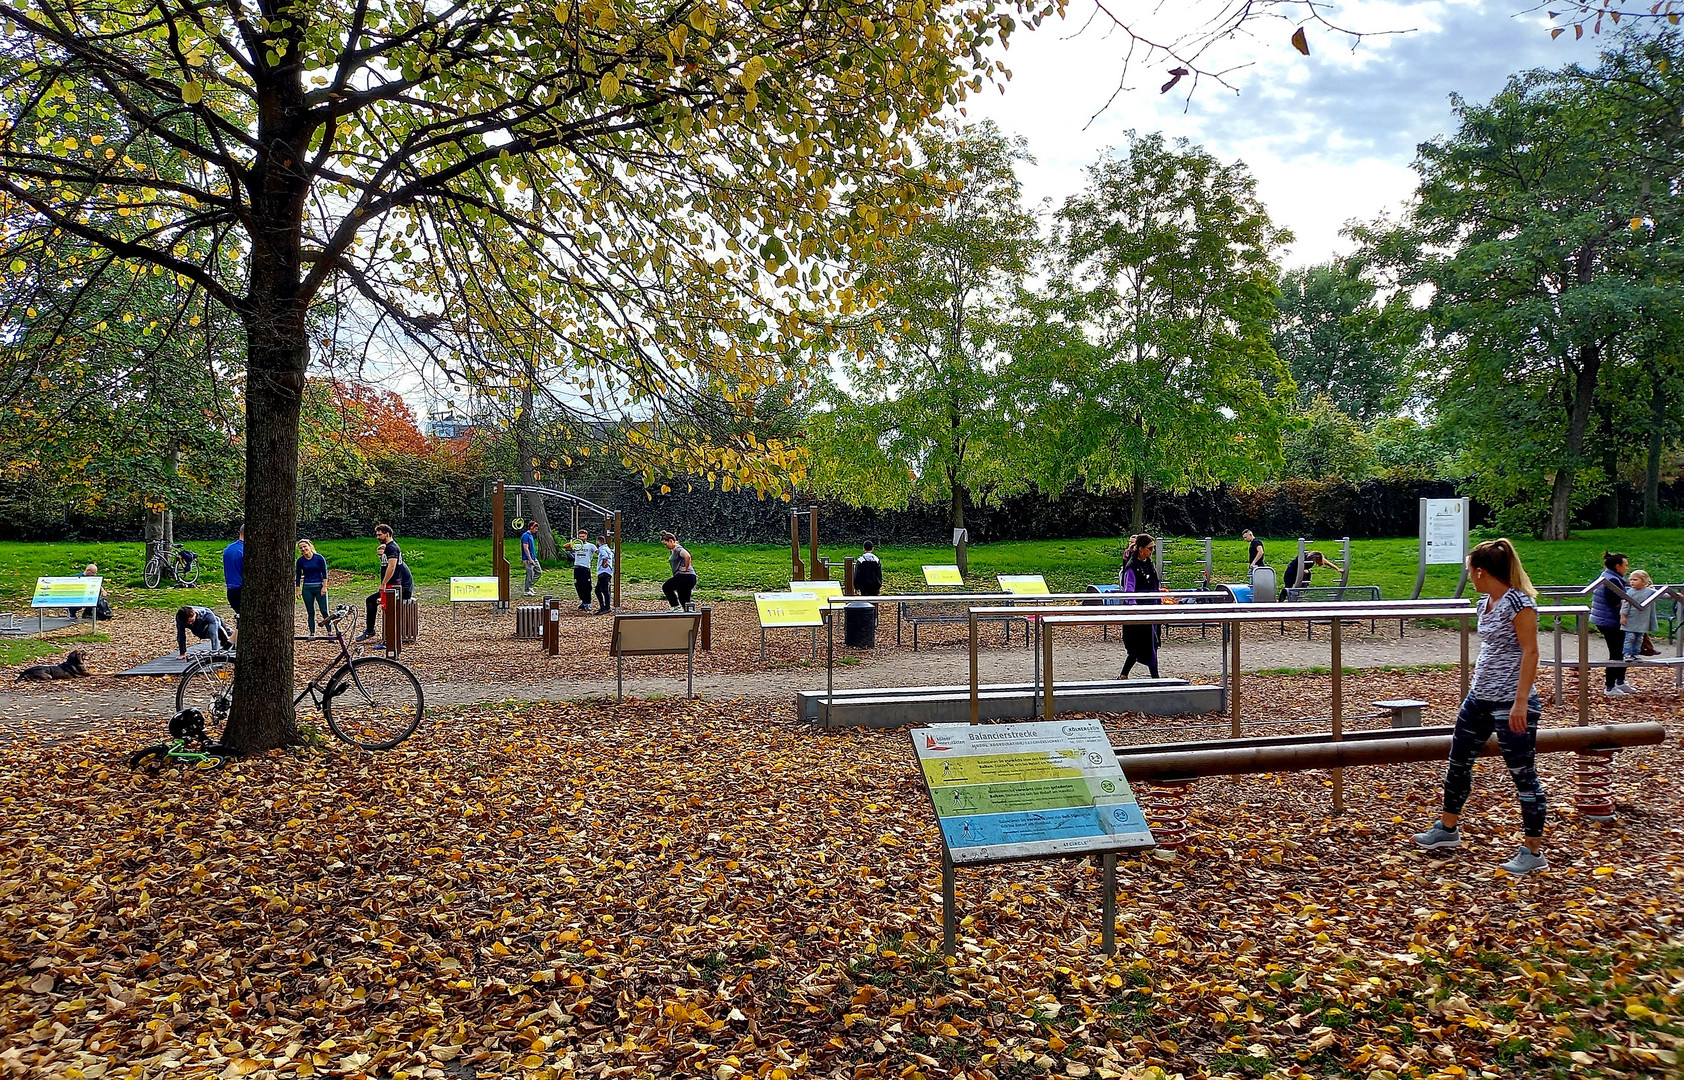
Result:
<svg viewBox="0 0 1684 1080"><path fill-rule="evenodd" d="M337 607L327 617L338 655L298 691L293 708L310 698L328 730L344 741L364 750L391 750L421 726L421 682L397 660L352 655L345 639L355 622L349 607ZM175 711L199 709L226 730L234 709L236 660L234 649L199 657L175 687Z"/></svg>

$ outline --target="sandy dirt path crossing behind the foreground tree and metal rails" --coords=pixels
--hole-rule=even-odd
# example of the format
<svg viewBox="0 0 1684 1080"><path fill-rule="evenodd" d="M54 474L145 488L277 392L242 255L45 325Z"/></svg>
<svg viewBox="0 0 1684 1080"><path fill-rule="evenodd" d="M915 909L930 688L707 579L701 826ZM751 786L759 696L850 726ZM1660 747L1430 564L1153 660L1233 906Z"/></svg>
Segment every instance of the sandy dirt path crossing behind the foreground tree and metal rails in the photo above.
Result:
<svg viewBox="0 0 1684 1080"><path fill-rule="evenodd" d="M529 645L522 645L524 649ZM731 649L739 649L733 642ZM1445 630L1411 628L1398 639L1396 627L1378 635L1349 634L1346 639L1346 667L1393 667L1418 664L1453 664L1458 657L1458 637ZM771 669L731 674L699 674L695 692L706 699L765 701L771 708L791 706L798 689L825 686L823 639L818 644L817 662L798 660ZM1123 662L1123 647L1111 637L1108 642L1093 639L1061 640L1054 650L1054 674L1064 679L1115 677ZM837 687L859 686L943 686L970 679L967 650L957 644L911 649L879 649L874 654L844 655L835 667ZM854 662L849 662L854 660ZM1305 640L1302 630L1285 635L1268 630L1251 630L1243 640L1241 666L1246 671L1325 667L1329 662L1327 632L1317 640ZM615 694L613 664L608 657L591 664L596 671L583 677L541 677L544 657L532 657L532 677L438 677L426 664L418 664L429 706L463 706L490 701L578 701ZM682 667L672 674L650 674L647 660L626 660L626 694L633 698L675 698L684 694ZM983 682L1027 681L1034 672L1029 649L1005 649L997 640L978 657ZM1165 676L1216 681L1221 677L1223 655L1216 639L1169 642L1160 652L1160 672ZM173 679L115 679L98 677L77 682L47 686L0 686L0 735L20 733L29 728L47 728L66 735L96 728L101 721L120 716L153 716L165 719L173 708Z"/></svg>

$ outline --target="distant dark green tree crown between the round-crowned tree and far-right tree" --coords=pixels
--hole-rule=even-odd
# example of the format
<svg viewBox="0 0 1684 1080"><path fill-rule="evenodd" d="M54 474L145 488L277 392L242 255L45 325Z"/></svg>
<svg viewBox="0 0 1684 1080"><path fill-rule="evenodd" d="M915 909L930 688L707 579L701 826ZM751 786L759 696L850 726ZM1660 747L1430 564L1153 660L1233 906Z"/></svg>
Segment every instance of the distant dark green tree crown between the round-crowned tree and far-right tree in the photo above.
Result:
<svg viewBox="0 0 1684 1080"><path fill-rule="evenodd" d="M1325 396L1361 423L1396 408L1406 359L1396 327L1403 313L1378 303L1376 293L1342 259L1282 275L1270 344L1292 371L1303 406Z"/></svg>

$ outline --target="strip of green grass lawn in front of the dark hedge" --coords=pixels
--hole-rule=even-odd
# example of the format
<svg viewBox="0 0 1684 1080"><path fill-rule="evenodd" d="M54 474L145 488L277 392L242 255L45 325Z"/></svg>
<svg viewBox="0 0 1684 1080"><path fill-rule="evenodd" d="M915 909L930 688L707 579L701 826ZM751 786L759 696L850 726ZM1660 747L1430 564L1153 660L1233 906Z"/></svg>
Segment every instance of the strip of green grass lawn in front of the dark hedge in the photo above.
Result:
<svg viewBox="0 0 1684 1080"><path fill-rule="evenodd" d="M492 551L487 541L436 541L399 537L404 559L418 585L445 585L453 576L490 575ZM1297 551L1295 539L1270 539L1268 561L1283 571ZM222 601L224 541L189 544L204 559L200 585L185 588L147 590L141 585L141 544L94 543L0 543L0 607L20 610L29 603L37 576L74 575L88 563L98 563L106 575L106 588L116 603L143 607L177 607L182 603ZM1315 544L1330 558L1337 558L1337 544ZM1633 568L1649 569L1655 581L1684 581L1684 529L1586 529L1569 541L1521 541L1521 558L1539 585L1585 583L1601 568L1605 548L1625 551ZM372 539L322 541L322 554L328 566L350 569L359 578L372 581L379 559ZM510 539L509 556L515 559L512 573L515 588L520 583L517 561L519 546ZM1416 539L1352 541L1351 583L1378 585L1386 598L1406 598L1415 590ZM823 554L840 561L857 554L854 546L834 544ZM660 544L626 544L623 548L625 581L633 586L658 585L667 576L667 549ZM719 595L729 590L778 590L790 580L790 549L778 544L690 544L695 568L701 575L701 593ZM951 563L951 548L899 548L879 549L886 569L886 591L916 591L923 588L925 563ZM803 559L805 549L803 549ZM1081 591L1088 585L1116 580L1122 564L1120 539L1078 541L1005 541L970 548L970 581L978 588L997 588L995 575L1044 575L1054 591ZM1199 573L1199 549L1192 541L1169 541L1165 549L1165 578L1172 586L1194 583ZM1239 539L1216 543L1214 568L1218 581L1244 578L1246 548ZM1317 585L1332 585L1335 575L1322 571ZM571 571L566 564L552 564L544 578L551 590L569 590ZM1435 566L1428 569L1423 596L1448 596L1455 591L1457 568Z"/></svg>

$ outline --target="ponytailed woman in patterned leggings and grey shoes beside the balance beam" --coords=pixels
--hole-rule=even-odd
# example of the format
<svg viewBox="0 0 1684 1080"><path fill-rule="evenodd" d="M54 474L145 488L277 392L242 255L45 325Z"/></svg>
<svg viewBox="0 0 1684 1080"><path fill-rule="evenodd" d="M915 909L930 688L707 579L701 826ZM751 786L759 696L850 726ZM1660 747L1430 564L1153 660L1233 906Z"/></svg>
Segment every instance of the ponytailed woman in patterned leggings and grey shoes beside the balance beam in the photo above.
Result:
<svg viewBox="0 0 1684 1080"><path fill-rule="evenodd" d="M1474 758L1495 731L1502 762L1521 797L1521 831L1526 837L1502 869L1521 876L1549 869L1543 854L1548 802L1536 762L1541 706L1532 692L1537 677L1537 590L1507 539L1485 541L1468 553L1468 580L1480 593L1474 686L1450 736L1443 815L1426 832L1416 832L1415 844L1423 851L1462 846L1458 822L1474 787ZM1499 716L1507 723L1499 723Z"/></svg>

